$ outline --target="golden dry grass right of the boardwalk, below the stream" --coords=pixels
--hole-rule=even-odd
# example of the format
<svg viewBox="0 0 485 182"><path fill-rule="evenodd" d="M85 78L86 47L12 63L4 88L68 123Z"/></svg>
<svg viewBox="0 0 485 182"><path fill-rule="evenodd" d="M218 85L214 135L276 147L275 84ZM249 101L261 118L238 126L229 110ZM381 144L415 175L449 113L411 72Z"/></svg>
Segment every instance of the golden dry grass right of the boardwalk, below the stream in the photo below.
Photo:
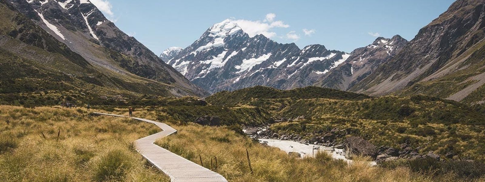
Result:
<svg viewBox="0 0 485 182"><path fill-rule="evenodd" d="M156 142L194 163L220 173L230 182L438 182L460 181L453 175L432 176L408 168L371 167L366 158L347 165L325 152L297 159L284 151L265 147L224 127L195 124L175 126L178 133ZM249 151L253 173L246 158ZM200 158L199 158L200 155ZM217 166L215 165L217 158ZM212 165L211 165L212 164Z"/></svg>

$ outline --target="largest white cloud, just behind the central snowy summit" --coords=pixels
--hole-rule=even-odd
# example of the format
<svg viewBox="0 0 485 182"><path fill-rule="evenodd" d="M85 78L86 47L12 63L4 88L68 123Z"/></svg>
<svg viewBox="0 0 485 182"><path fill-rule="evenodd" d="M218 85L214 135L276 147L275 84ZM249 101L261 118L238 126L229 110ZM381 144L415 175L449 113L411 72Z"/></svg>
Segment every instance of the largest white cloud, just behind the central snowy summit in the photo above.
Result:
<svg viewBox="0 0 485 182"><path fill-rule="evenodd" d="M266 15L266 19L264 19L263 21L252 21L246 19L232 19L231 21L237 23L242 28L242 31L249 34L249 36L251 37L263 34L264 36L271 38L276 36L276 33L273 32L274 28L290 27L290 25L285 24L281 20L275 21L275 17L275 14L270 13ZM271 23L269 21L271 21Z"/></svg>

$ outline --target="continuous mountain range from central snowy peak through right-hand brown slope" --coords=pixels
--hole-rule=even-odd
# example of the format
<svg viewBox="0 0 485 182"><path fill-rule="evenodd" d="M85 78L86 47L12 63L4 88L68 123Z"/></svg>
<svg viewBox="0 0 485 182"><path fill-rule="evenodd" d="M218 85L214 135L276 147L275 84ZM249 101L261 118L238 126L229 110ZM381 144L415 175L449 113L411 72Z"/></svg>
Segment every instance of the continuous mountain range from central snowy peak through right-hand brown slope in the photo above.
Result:
<svg viewBox="0 0 485 182"><path fill-rule="evenodd" d="M378 37L351 53L249 36L227 19L164 60L210 93L308 85L371 96L425 94L485 103L483 0L457 0L414 39Z"/></svg>

